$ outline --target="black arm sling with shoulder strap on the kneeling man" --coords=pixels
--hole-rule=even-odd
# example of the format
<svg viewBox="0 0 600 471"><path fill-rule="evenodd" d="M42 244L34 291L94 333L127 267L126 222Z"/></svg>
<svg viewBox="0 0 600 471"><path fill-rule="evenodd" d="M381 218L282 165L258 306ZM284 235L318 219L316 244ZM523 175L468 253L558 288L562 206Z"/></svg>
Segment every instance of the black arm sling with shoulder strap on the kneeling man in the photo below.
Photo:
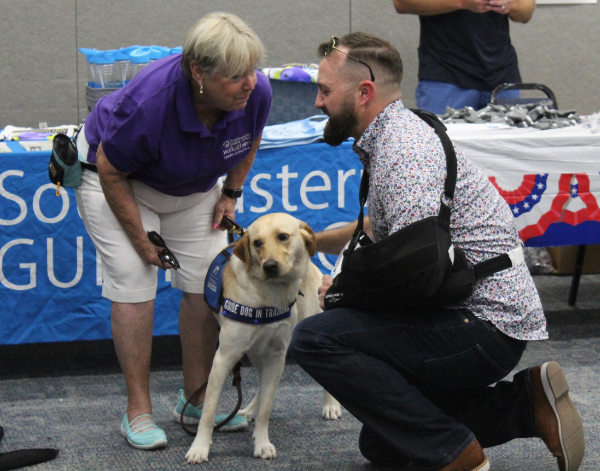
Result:
<svg viewBox="0 0 600 471"><path fill-rule="evenodd" d="M373 243L363 230L369 194L369 176L364 171L358 223L334 268L337 274L325 294L326 310L352 307L403 312L454 304L473 293L478 279L516 264L515 257L504 254L473 266L462 250L453 246L450 207L456 186L456 153L445 126L434 114L412 111L434 128L446 154L447 176L440 211Z"/></svg>

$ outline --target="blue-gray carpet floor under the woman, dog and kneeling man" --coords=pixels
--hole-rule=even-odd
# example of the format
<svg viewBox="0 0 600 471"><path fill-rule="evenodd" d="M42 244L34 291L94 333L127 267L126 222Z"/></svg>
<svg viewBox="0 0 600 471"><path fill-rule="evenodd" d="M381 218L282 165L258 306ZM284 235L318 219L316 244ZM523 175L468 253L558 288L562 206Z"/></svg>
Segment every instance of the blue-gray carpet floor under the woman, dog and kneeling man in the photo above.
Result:
<svg viewBox="0 0 600 471"><path fill-rule="evenodd" d="M551 339L531 342L518 369L558 361L571 385L571 397L585 425L587 453L582 471L600 470L600 275L582 277L577 307L567 306L570 277L535 277L547 313ZM0 359L1 360L1 359ZM515 370L515 371L517 371ZM245 403L257 389L251 367L242 368ZM138 451L119 434L125 409L120 374L0 376L0 424L5 436L0 452L20 448L60 449L35 470L375 470L357 448L360 423L346 411L338 421L320 418L322 393L290 362L280 383L270 423L275 460L252 456L252 430L215 433L210 461L189 465L184 455L193 437L172 421L181 371L169 366L152 373L154 418L169 445ZM231 409L235 389L226 388L221 406ZM541 440L515 440L487 449L493 471L558 469Z"/></svg>

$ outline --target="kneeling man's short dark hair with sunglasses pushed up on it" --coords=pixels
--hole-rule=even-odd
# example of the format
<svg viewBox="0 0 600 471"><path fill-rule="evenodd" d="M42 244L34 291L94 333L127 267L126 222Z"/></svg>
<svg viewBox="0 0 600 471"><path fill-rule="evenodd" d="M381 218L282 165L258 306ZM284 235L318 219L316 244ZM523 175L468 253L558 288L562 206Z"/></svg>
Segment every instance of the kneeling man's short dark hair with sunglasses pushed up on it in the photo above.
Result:
<svg viewBox="0 0 600 471"><path fill-rule="evenodd" d="M322 43L318 48L321 57L325 56L325 51L329 41ZM369 33L350 33L339 38L336 41L336 47L344 46L348 53L353 57L369 64L373 69L375 81L377 81L377 71L385 72L387 81L400 84L402 81L402 59L398 50L388 41L373 36ZM352 61L348 61L350 63Z"/></svg>

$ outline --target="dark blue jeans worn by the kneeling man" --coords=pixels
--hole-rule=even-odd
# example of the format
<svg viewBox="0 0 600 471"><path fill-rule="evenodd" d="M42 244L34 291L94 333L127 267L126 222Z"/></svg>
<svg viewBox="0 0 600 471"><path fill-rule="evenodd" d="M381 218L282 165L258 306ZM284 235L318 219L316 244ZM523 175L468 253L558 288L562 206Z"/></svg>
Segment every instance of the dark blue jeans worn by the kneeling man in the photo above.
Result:
<svg viewBox="0 0 600 471"><path fill-rule="evenodd" d="M428 470L474 438L491 447L537 436L528 370L501 381L526 344L468 310L337 308L300 322L290 352L363 424L369 461Z"/></svg>

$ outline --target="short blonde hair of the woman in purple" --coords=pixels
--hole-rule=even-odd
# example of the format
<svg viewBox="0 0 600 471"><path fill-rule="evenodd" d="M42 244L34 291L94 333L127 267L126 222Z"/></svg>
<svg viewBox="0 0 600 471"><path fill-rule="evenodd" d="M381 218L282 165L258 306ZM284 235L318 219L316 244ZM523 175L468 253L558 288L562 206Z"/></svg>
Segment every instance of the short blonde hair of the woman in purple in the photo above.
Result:
<svg viewBox="0 0 600 471"><path fill-rule="evenodd" d="M195 62L208 75L233 77L255 68L265 48L252 29L230 13L210 13L192 26L183 42L181 66L192 77Z"/></svg>

